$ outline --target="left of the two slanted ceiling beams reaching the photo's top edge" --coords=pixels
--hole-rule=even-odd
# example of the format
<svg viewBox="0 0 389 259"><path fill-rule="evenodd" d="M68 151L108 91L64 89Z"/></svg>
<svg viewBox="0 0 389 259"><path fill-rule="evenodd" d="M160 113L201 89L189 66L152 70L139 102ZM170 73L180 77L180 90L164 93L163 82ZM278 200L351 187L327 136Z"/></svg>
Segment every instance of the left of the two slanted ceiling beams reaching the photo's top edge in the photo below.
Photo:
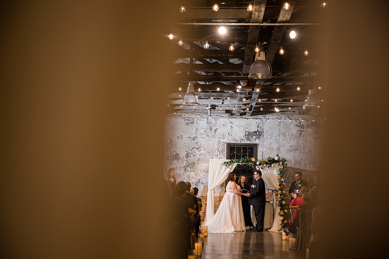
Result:
<svg viewBox="0 0 389 259"><path fill-rule="evenodd" d="M254 0L253 10L251 16L251 23L262 23L263 13L265 12L266 0ZM247 37L247 44L245 47L245 57L242 69L242 75L249 75L250 66L254 57L254 49L258 42L258 35L261 26L250 26L249 36Z"/></svg>

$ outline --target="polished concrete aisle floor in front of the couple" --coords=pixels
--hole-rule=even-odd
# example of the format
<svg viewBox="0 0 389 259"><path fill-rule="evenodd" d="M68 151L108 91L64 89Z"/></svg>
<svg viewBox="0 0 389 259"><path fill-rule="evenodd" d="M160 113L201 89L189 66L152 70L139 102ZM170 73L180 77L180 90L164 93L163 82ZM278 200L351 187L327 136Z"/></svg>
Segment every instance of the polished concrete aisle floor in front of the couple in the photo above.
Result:
<svg viewBox="0 0 389 259"><path fill-rule="evenodd" d="M204 240L202 259L249 259L249 258L306 258L305 252L289 250L281 233L237 232L234 234L209 233Z"/></svg>

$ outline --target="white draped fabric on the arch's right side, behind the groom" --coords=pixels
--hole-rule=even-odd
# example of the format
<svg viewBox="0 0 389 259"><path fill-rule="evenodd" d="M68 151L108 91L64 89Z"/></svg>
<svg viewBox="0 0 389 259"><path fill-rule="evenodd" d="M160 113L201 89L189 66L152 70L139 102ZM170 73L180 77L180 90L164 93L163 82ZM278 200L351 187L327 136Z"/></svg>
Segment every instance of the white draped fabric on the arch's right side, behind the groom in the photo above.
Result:
<svg viewBox="0 0 389 259"><path fill-rule="evenodd" d="M260 169L262 172L263 181L267 186L269 186L270 189L273 190L278 190L278 188L280 187L277 179L279 173L278 169L279 167L277 164L273 164L272 167L265 167L263 169L262 168ZM269 231L278 232L278 230L281 228L281 217L279 216L278 212L279 212L278 203L275 202L273 226L271 229L269 229Z"/></svg>

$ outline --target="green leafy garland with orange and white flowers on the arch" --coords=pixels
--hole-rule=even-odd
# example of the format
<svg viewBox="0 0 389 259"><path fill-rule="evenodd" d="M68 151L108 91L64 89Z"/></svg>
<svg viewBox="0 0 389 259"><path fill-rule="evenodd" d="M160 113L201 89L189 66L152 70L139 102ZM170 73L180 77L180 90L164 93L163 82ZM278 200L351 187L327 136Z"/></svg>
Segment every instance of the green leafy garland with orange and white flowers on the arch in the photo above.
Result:
<svg viewBox="0 0 389 259"><path fill-rule="evenodd" d="M264 160L255 160L255 158L251 157L244 157L240 159L231 159L229 161L226 161L223 163L226 167L230 167L234 163L239 163L242 165L248 165L251 167L272 167L273 164L277 164L275 166L278 166L278 195L276 196L278 201L278 206L280 208L280 211L278 212L278 215L281 217L281 228L287 228L289 226L289 216L288 216L288 209L289 209L289 203L287 203L286 197L287 197L287 191L284 191L284 183L286 181L285 171L287 167L288 160L286 158L281 158L279 155L276 155L273 157L265 158Z"/></svg>

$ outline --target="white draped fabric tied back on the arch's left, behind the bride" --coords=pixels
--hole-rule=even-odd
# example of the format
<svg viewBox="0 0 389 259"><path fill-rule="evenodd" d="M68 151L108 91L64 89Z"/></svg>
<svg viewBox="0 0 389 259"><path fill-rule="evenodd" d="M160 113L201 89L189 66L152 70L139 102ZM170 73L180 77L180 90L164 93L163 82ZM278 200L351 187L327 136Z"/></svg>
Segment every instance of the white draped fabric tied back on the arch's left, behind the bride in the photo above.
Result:
<svg viewBox="0 0 389 259"><path fill-rule="evenodd" d="M208 193L207 193L207 211L205 212L205 221L211 220L215 215L214 195L215 188L226 181L227 176L237 166L234 163L231 167L226 167L222 163L229 161L226 159L210 159L208 174Z"/></svg>

